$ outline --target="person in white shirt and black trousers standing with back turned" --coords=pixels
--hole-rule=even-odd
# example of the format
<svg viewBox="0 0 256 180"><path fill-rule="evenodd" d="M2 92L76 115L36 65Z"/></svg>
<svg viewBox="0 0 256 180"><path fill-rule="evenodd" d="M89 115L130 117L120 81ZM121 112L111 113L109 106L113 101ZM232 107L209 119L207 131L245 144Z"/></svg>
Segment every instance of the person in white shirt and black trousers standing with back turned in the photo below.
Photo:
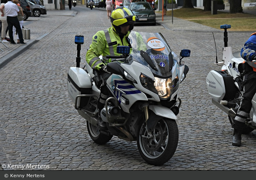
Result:
<svg viewBox="0 0 256 180"><path fill-rule="evenodd" d="M16 28L17 33L19 35L20 39L20 45L26 45L24 43L23 35L22 35L22 29L20 28L20 22L17 18L18 13L20 13L19 8L17 7L16 4L11 2L11 0L8 0L4 6L0 6L0 11L2 13L1 16L4 16L4 11L5 9L6 15L7 15L7 23L8 23L8 31L9 31L9 37L10 37L10 43L11 44L16 44L15 41L13 40L13 26Z"/></svg>

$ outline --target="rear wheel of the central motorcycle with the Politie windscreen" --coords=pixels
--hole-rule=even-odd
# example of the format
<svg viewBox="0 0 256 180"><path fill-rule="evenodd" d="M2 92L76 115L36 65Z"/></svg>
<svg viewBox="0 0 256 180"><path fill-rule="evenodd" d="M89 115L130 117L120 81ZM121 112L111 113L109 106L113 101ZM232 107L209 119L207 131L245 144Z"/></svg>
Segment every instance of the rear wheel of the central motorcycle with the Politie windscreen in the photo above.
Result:
<svg viewBox="0 0 256 180"><path fill-rule="evenodd" d="M89 133L91 139L97 144L106 144L113 137L113 135L105 135L105 134L100 133L96 129L96 126L93 126L88 121L86 121L86 124L87 124L87 130L88 130L88 133Z"/></svg>

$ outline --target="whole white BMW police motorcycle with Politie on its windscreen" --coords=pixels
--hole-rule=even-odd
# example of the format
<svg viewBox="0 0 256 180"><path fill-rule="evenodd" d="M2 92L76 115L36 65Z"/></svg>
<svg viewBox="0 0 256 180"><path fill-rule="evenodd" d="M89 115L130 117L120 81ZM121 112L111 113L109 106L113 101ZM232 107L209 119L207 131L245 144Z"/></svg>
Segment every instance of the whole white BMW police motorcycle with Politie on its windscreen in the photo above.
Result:
<svg viewBox="0 0 256 180"><path fill-rule="evenodd" d="M189 57L190 50L182 49L178 57L161 33L132 31L128 40L131 53L130 47L119 46L117 52L121 56L107 56L112 61L107 64L112 75L106 81L110 96L98 112L100 78L89 64L86 69L79 67L83 36L77 35L77 66L69 69L68 93L95 143L105 144L113 136L137 141L139 153L147 163L162 165L178 146L178 91L189 71L181 59ZM108 130L98 129L98 113Z"/></svg>

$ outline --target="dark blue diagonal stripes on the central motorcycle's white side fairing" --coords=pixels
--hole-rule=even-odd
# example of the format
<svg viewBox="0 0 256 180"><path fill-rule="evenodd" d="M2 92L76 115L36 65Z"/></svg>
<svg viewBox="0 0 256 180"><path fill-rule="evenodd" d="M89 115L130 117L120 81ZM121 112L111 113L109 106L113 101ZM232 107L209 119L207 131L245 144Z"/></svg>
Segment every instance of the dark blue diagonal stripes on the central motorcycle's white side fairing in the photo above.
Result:
<svg viewBox="0 0 256 180"><path fill-rule="evenodd" d="M126 95L127 94L139 94L139 93L141 93L140 90L137 90L137 88L135 88L135 86L132 86L130 83L128 83L125 80L122 80L122 81L114 80L114 84L115 84L115 87L117 87L118 89L125 92ZM121 103L120 96L123 95L123 93L118 91L118 90L115 90L115 95L116 95L119 103Z"/></svg>

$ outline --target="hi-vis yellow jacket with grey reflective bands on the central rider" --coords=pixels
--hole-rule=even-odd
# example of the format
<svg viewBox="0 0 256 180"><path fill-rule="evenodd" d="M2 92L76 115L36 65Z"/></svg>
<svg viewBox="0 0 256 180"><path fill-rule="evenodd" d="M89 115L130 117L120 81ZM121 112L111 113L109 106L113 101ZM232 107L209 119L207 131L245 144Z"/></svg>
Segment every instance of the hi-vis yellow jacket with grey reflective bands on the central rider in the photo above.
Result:
<svg viewBox="0 0 256 180"><path fill-rule="evenodd" d="M117 46L130 46L127 37L128 32L123 39L120 39L119 35L110 27L106 30L98 31L92 39L90 49L86 53L86 61L92 69L100 70L100 68L111 62L111 59L106 59L106 55L119 56ZM100 60L99 56L103 56L104 62Z"/></svg>

